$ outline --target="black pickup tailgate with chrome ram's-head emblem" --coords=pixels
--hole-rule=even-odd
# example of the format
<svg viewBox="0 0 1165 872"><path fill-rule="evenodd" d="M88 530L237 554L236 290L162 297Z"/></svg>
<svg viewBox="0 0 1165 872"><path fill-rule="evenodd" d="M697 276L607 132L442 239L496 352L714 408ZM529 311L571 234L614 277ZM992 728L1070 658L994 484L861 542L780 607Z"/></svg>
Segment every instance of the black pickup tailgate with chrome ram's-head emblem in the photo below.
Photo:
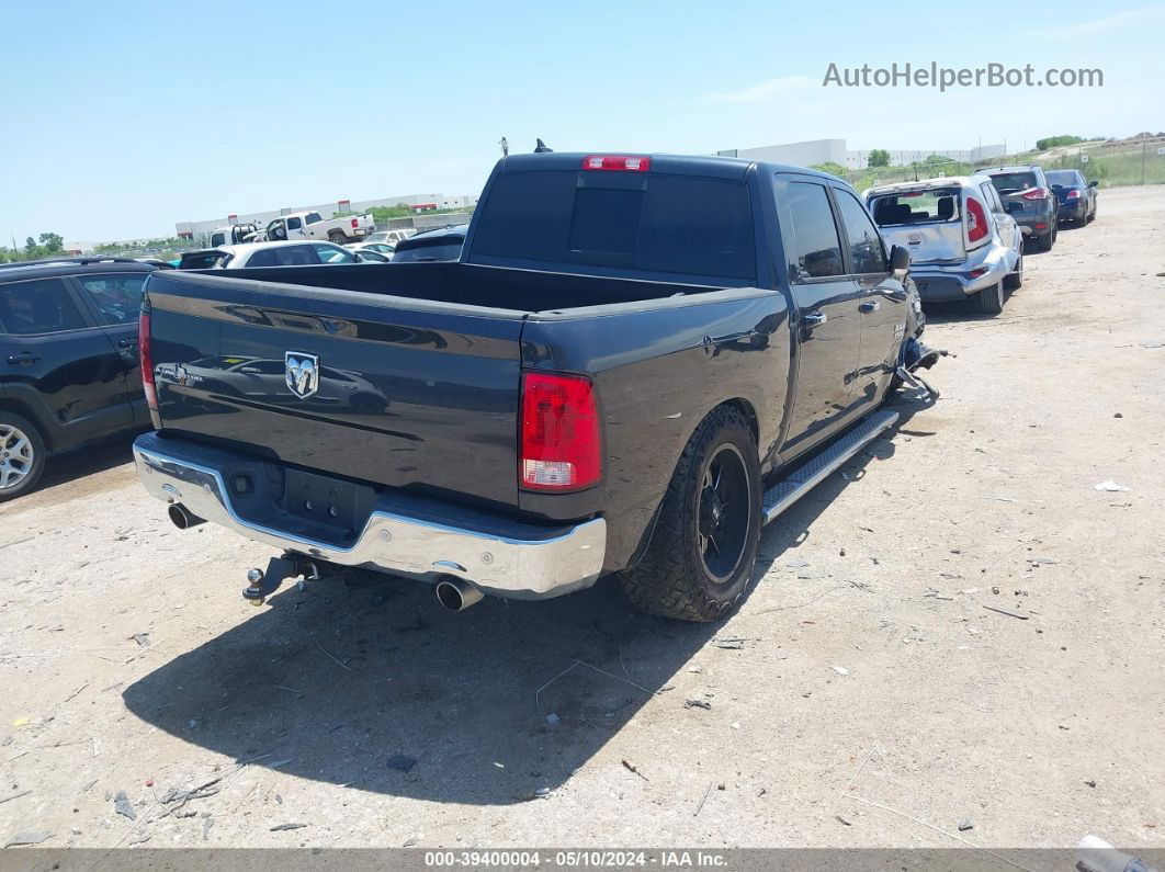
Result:
<svg viewBox="0 0 1165 872"><path fill-rule="evenodd" d="M521 313L202 274L146 292L164 433L517 504Z"/></svg>

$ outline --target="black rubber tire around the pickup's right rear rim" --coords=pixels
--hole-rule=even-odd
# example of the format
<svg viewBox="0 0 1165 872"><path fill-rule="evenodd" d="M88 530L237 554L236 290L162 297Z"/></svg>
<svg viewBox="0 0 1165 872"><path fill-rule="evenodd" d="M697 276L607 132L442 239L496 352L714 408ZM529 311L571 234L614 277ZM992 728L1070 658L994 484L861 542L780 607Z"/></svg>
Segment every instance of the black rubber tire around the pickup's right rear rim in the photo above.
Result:
<svg viewBox="0 0 1165 872"><path fill-rule="evenodd" d="M699 547L704 473L732 444L743 458L748 482L748 526L740 562L723 583L708 573ZM761 539L761 470L756 440L743 413L720 406L697 427L668 484L651 543L638 563L621 576L631 603L651 615L709 622L728 614L748 590Z"/></svg>

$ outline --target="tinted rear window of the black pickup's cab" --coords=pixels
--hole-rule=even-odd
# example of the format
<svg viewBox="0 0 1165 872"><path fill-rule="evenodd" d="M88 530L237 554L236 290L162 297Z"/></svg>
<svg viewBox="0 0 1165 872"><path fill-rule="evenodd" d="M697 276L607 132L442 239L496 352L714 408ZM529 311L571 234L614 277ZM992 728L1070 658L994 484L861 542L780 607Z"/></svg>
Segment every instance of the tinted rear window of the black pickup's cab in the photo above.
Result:
<svg viewBox="0 0 1165 872"><path fill-rule="evenodd" d="M748 190L740 182L573 171L500 176L473 255L755 279Z"/></svg>

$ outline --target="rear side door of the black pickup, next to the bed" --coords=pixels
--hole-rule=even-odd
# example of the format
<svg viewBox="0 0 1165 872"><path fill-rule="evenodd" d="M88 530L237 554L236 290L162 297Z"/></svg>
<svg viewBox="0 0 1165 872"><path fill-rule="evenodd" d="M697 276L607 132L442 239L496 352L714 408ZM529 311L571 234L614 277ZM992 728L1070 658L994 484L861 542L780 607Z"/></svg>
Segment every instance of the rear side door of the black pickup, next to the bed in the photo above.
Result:
<svg viewBox="0 0 1165 872"><path fill-rule="evenodd" d="M857 283L846 274L842 238L828 189L819 179L778 175L785 257L798 312L797 390L782 452L798 453L835 430L849 412L861 316Z"/></svg>

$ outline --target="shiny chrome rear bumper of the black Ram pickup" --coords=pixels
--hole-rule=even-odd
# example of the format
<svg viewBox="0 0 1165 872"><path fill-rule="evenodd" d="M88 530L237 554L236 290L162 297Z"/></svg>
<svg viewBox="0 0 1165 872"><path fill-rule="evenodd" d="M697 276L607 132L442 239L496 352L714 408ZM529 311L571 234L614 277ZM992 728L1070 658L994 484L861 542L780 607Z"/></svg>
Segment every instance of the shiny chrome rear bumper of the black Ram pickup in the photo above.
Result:
<svg viewBox="0 0 1165 872"><path fill-rule="evenodd" d="M454 575L514 600L569 594L593 584L602 570L602 518L543 527L411 495L382 495L354 540L322 541L239 513L226 485L230 470L268 466L263 461L146 433L134 441L134 462L151 496L249 539L332 563L426 580ZM277 518L273 505L270 517ZM440 520L443 510L456 522Z"/></svg>

